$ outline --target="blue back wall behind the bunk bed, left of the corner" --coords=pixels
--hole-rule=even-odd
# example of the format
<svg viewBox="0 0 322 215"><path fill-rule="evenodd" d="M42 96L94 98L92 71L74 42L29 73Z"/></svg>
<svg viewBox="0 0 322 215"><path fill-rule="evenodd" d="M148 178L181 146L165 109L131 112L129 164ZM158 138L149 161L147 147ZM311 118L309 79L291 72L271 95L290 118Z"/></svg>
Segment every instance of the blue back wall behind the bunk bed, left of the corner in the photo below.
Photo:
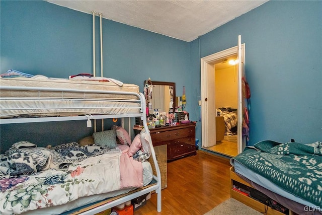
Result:
<svg viewBox="0 0 322 215"><path fill-rule="evenodd" d="M92 14L45 1L1 1L0 6L0 73L11 68L55 78L92 73ZM96 33L96 75L100 76L99 17ZM103 53L104 77L139 85L141 92L148 78L176 82L179 94L191 82L190 45L182 40L103 19ZM84 123L1 125L1 151L21 140L38 146L77 141L93 132ZM109 128L111 123L105 125ZM18 134L11 133L17 130Z"/></svg>

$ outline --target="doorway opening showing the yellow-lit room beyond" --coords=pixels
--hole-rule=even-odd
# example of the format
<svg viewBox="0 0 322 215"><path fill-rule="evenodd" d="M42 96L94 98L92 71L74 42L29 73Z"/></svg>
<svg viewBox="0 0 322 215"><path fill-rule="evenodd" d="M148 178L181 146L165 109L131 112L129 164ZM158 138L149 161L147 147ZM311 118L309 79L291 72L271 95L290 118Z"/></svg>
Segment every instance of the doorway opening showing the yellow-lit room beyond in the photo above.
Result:
<svg viewBox="0 0 322 215"><path fill-rule="evenodd" d="M216 145L203 149L234 157L237 152L238 64L237 54L214 62Z"/></svg>

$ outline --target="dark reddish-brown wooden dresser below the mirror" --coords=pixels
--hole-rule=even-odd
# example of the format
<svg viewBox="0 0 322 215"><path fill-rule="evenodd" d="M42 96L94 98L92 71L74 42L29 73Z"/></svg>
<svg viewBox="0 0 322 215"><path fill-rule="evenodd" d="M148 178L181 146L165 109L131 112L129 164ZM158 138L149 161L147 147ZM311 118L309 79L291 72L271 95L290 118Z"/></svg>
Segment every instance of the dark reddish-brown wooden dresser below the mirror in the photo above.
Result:
<svg viewBox="0 0 322 215"><path fill-rule="evenodd" d="M167 160L196 155L196 124L180 124L151 128L153 146L167 145Z"/></svg>

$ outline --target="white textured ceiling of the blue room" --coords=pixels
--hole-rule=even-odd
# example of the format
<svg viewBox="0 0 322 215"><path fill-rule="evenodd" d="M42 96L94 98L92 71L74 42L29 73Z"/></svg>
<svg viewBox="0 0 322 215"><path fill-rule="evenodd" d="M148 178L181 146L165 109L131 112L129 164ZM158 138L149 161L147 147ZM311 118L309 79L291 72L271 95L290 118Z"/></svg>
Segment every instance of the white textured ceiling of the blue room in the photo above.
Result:
<svg viewBox="0 0 322 215"><path fill-rule="evenodd" d="M268 0L47 0L76 11L190 42Z"/></svg>

